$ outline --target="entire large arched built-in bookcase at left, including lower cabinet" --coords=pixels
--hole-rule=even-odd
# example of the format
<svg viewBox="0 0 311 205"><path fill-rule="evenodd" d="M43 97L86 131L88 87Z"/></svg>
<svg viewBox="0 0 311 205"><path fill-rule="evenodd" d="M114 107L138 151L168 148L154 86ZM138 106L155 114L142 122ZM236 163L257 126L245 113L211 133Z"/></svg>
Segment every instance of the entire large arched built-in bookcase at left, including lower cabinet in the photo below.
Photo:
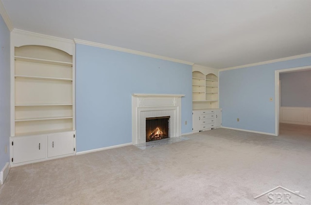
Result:
<svg viewBox="0 0 311 205"><path fill-rule="evenodd" d="M11 166L73 155L73 41L11 33Z"/></svg>

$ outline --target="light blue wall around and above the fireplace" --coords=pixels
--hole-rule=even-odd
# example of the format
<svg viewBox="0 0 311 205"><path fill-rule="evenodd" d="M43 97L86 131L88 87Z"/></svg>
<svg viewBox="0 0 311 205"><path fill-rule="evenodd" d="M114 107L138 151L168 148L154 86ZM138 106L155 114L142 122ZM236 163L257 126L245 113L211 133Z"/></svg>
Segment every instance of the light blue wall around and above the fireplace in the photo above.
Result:
<svg viewBox="0 0 311 205"><path fill-rule="evenodd" d="M190 65L77 44L77 151L132 142L132 93L185 94L181 132L192 132L191 82Z"/></svg>

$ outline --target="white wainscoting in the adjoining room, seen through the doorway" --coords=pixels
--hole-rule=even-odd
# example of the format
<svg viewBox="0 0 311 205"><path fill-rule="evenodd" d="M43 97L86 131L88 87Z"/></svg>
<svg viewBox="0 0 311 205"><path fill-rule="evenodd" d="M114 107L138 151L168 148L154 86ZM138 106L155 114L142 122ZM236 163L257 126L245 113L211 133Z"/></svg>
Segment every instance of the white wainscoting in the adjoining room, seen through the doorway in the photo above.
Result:
<svg viewBox="0 0 311 205"><path fill-rule="evenodd" d="M280 122L311 125L311 107L280 107Z"/></svg>

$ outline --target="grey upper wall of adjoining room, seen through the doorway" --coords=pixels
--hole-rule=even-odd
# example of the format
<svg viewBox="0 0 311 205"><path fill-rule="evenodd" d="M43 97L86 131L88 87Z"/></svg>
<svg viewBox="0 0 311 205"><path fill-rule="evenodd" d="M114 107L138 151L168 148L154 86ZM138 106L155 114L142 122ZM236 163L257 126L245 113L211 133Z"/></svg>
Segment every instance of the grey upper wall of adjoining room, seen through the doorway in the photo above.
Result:
<svg viewBox="0 0 311 205"><path fill-rule="evenodd" d="M280 73L281 106L311 107L311 70Z"/></svg>

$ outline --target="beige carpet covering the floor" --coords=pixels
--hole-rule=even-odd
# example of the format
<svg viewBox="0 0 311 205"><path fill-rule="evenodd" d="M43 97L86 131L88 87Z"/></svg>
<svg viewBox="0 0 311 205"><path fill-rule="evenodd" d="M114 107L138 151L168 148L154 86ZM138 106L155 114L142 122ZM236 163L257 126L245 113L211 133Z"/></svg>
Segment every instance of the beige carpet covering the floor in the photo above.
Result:
<svg viewBox="0 0 311 205"><path fill-rule="evenodd" d="M268 205L276 186L311 204L311 126L279 137L228 129L147 150L121 147L12 168L1 205ZM282 190L278 190L282 192Z"/></svg>

